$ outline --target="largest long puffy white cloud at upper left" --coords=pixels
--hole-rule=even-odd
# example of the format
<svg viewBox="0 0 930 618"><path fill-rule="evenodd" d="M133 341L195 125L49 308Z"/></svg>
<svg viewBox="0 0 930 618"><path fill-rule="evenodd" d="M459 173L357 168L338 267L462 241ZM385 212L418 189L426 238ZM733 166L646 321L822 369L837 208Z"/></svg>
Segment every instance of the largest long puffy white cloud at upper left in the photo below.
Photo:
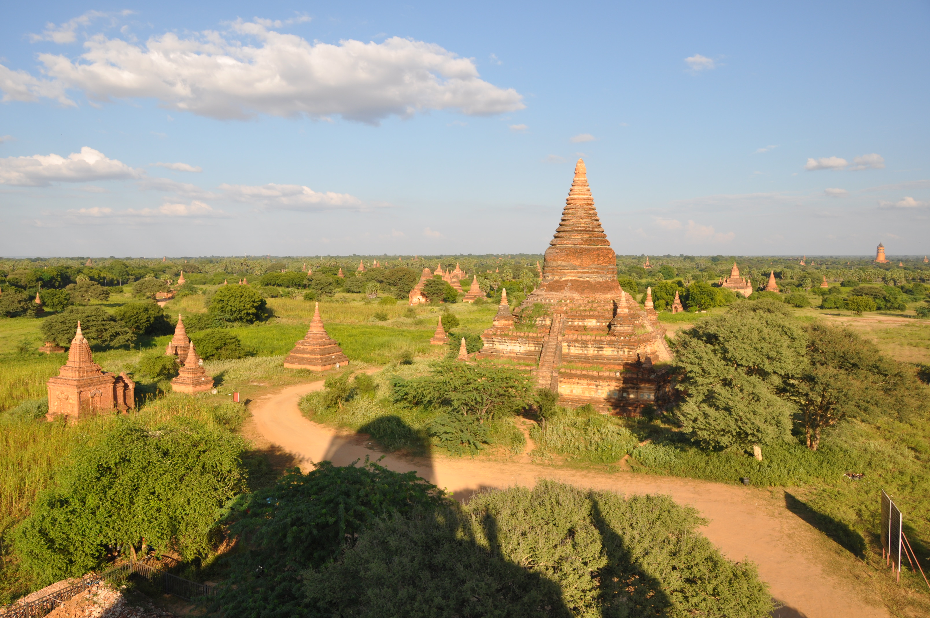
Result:
<svg viewBox="0 0 930 618"><path fill-rule="evenodd" d="M5 101L40 96L62 101L68 87L83 90L91 101L155 99L170 109L221 119L339 114L377 124L390 115L426 110L481 115L525 108L516 90L485 82L473 60L435 44L397 36L383 43L310 43L264 23L230 25L233 36L258 43L211 31L167 33L144 44L96 34L79 60L39 54L52 81L0 66L0 87Z"/></svg>

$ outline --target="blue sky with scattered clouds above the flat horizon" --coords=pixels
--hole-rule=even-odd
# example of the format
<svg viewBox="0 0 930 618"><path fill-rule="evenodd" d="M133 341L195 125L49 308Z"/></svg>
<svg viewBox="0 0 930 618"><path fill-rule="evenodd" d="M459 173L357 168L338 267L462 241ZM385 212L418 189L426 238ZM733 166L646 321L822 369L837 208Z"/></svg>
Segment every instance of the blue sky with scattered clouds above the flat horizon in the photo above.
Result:
<svg viewBox="0 0 930 618"><path fill-rule="evenodd" d="M19 3L0 254L930 253L930 4Z"/></svg>

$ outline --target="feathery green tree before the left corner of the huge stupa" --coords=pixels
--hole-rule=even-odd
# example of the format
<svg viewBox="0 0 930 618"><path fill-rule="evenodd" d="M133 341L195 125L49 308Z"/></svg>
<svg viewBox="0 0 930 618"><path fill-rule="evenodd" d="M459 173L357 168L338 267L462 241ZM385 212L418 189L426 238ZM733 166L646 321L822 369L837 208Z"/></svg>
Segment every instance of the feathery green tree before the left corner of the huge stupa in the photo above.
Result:
<svg viewBox="0 0 930 618"><path fill-rule="evenodd" d="M396 403L448 410L481 422L509 415L534 401L533 379L518 369L491 362L475 364L445 360L432 365L431 374L411 380L394 378Z"/></svg>

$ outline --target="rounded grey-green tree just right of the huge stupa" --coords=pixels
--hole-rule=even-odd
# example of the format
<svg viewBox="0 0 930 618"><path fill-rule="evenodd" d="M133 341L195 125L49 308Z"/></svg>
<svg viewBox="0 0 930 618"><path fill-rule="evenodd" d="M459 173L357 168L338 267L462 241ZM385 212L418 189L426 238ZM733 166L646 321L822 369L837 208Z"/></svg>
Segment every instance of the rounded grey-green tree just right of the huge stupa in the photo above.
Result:
<svg viewBox="0 0 930 618"><path fill-rule="evenodd" d="M790 438L795 411L778 393L804 365L804 332L784 305L750 301L712 316L674 340L674 417L712 448L773 444Z"/></svg>

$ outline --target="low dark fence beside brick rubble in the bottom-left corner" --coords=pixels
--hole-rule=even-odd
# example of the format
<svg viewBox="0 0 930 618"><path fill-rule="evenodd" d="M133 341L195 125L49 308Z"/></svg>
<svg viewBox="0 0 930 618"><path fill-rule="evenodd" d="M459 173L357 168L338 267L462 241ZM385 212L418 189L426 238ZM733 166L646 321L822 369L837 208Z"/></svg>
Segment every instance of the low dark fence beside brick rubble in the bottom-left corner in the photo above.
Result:
<svg viewBox="0 0 930 618"><path fill-rule="evenodd" d="M28 603L14 603L0 607L0 618L41 618L61 603L76 597L92 585L100 584L104 580L112 584L125 582L132 573L139 573L153 584L160 585L166 593L186 600L213 597L217 592L212 585L192 582L183 577L172 575L166 572L165 569L166 566L161 563L153 565L147 561L126 562L103 571L98 578L82 580L45 597L36 598Z"/></svg>

